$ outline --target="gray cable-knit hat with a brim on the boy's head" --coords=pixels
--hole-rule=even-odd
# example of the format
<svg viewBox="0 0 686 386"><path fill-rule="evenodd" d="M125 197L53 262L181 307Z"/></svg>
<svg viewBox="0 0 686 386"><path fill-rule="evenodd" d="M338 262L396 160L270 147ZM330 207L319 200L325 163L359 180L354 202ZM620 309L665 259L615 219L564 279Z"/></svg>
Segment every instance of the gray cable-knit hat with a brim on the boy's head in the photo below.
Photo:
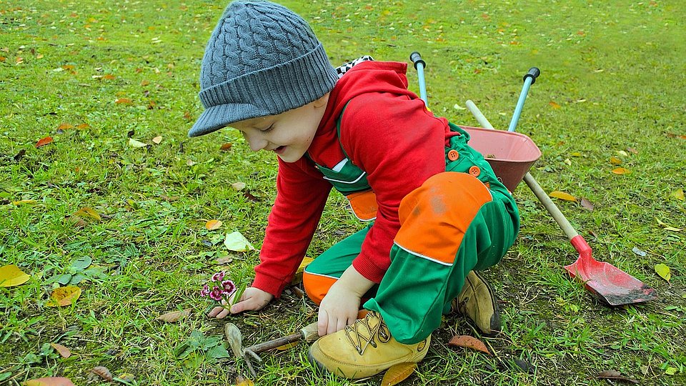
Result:
<svg viewBox="0 0 686 386"><path fill-rule="evenodd" d="M207 43L199 94L205 111L188 136L302 107L337 79L302 17L269 1L233 1Z"/></svg>

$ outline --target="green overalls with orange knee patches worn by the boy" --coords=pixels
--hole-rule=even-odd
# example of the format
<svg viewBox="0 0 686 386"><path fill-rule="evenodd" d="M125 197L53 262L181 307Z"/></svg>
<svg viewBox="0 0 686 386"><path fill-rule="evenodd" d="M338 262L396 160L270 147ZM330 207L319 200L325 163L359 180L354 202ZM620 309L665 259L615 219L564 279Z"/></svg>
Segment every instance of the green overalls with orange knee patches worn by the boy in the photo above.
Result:
<svg viewBox="0 0 686 386"><path fill-rule="evenodd" d="M489 192L489 197L484 203L478 204L479 207L472 209L470 214L462 214L460 212L462 209L456 209L457 213L446 217L434 216L437 218L429 219L426 222L422 220L422 217L408 217L403 223L401 218L401 227L390 251L389 269L378 287L373 288L367 294L370 299L364 303L364 308L380 312L393 337L406 344L423 340L439 326L442 313L449 308L454 297L459 295L469 271L485 269L497 264L507 249L515 242L519 230L519 213L515 200L507 188L498 181L482 155L467 145L469 134L454 124L450 124L450 129L459 132L460 135L452 137L450 146L444 149L445 170L459 174L441 173L439 176L449 174L447 177L459 177L456 179L459 182L450 187L450 192L447 192L445 197L452 197L449 198L448 202L459 202L461 197L469 196L469 192L474 190L474 187ZM340 120L338 122L338 134L340 138ZM459 157L451 150L457 151ZM324 174L324 178L328 179L334 188L344 195L370 189L369 184L367 184L366 173L352 164L349 158L346 158L333 169L322 165L317 165L317 167ZM467 174L471 174L471 177ZM424 182L424 185L430 184L434 177ZM473 177L476 177L480 183ZM417 199L420 202L422 199L435 201L437 196L441 196L442 190L447 190L444 186L438 187L437 190L434 187L424 187L424 185L408 194L408 197L414 194L413 202ZM484 185L488 189L484 189ZM436 194L436 192L439 193ZM402 206L403 203L401 203L401 212ZM459 205L457 206L459 207ZM417 210L413 212L417 212ZM450 216L467 225L464 227L465 229L455 231L459 232L459 237L439 240L443 244L450 244L451 240L459 239L452 249L453 252L457 252L449 259L442 261L434 259L427 254L413 252L411 248L399 244L398 240L402 238L401 234L404 229L409 229L409 232L414 232L414 234L417 232L441 234L441 228L451 227L445 225L445 221L448 221L446 219ZM464 218L465 216L470 218ZM414 229L412 229L413 222ZM322 282L315 279L310 281L309 277L324 277L324 279L329 280L329 285L332 284L357 257L371 226L372 224L369 224L368 227L334 244L305 268L304 284L310 297L312 297L311 292L314 290L325 294L328 287L323 289L308 288L315 286L308 285L309 282ZM443 234L445 233L443 232ZM423 237L412 238L423 239ZM430 239L430 237L428 238ZM430 254L431 247L427 246L427 248ZM422 246L415 249L422 249ZM321 301L321 299L314 299L314 297L313 300L315 302Z"/></svg>

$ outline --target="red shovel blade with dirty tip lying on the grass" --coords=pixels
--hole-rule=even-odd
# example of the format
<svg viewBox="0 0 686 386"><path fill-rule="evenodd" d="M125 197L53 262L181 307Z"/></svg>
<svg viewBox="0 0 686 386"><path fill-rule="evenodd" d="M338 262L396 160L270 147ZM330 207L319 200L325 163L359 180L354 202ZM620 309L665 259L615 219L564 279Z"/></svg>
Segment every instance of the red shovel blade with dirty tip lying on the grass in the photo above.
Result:
<svg viewBox="0 0 686 386"><path fill-rule="evenodd" d="M579 279L586 289L608 305L630 305L657 297L652 287L622 269L607 262L598 262L592 257L580 257L565 269L572 278Z"/></svg>

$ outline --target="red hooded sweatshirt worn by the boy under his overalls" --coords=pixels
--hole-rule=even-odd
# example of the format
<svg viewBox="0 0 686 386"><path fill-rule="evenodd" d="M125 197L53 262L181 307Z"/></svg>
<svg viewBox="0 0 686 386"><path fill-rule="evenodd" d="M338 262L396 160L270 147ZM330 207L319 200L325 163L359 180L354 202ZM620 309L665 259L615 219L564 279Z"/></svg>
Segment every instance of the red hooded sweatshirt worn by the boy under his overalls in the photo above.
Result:
<svg viewBox="0 0 686 386"><path fill-rule="evenodd" d="M345 158L342 146L350 161L367 172L377 197L377 219L352 264L377 283L390 264L400 200L445 171L444 146L457 134L407 90L406 71L407 64L381 61L364 61L347 71L331 91L307 150L312 161L333 168ZM339 139L336 122L344 107ZM279 159L277 199L253 283L277 297L302 262L332 189L312 161Z"/></svg>

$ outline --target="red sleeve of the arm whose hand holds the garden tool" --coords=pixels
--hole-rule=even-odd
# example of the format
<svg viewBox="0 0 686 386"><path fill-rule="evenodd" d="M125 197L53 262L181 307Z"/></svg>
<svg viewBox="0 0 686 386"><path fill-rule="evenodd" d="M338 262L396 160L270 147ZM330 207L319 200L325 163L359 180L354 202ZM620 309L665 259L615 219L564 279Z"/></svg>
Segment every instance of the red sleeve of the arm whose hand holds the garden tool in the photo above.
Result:
<svg viewBox="0 0 686 386"><path fill-rule="evenodd" d="M367 172L377 197L377 219L353 266L380 282L400 228L400 200L434 174L445 171L447 121L424 107L421 99L389 93L362 94L347 105L341 143L352 163Z"/></svg>

